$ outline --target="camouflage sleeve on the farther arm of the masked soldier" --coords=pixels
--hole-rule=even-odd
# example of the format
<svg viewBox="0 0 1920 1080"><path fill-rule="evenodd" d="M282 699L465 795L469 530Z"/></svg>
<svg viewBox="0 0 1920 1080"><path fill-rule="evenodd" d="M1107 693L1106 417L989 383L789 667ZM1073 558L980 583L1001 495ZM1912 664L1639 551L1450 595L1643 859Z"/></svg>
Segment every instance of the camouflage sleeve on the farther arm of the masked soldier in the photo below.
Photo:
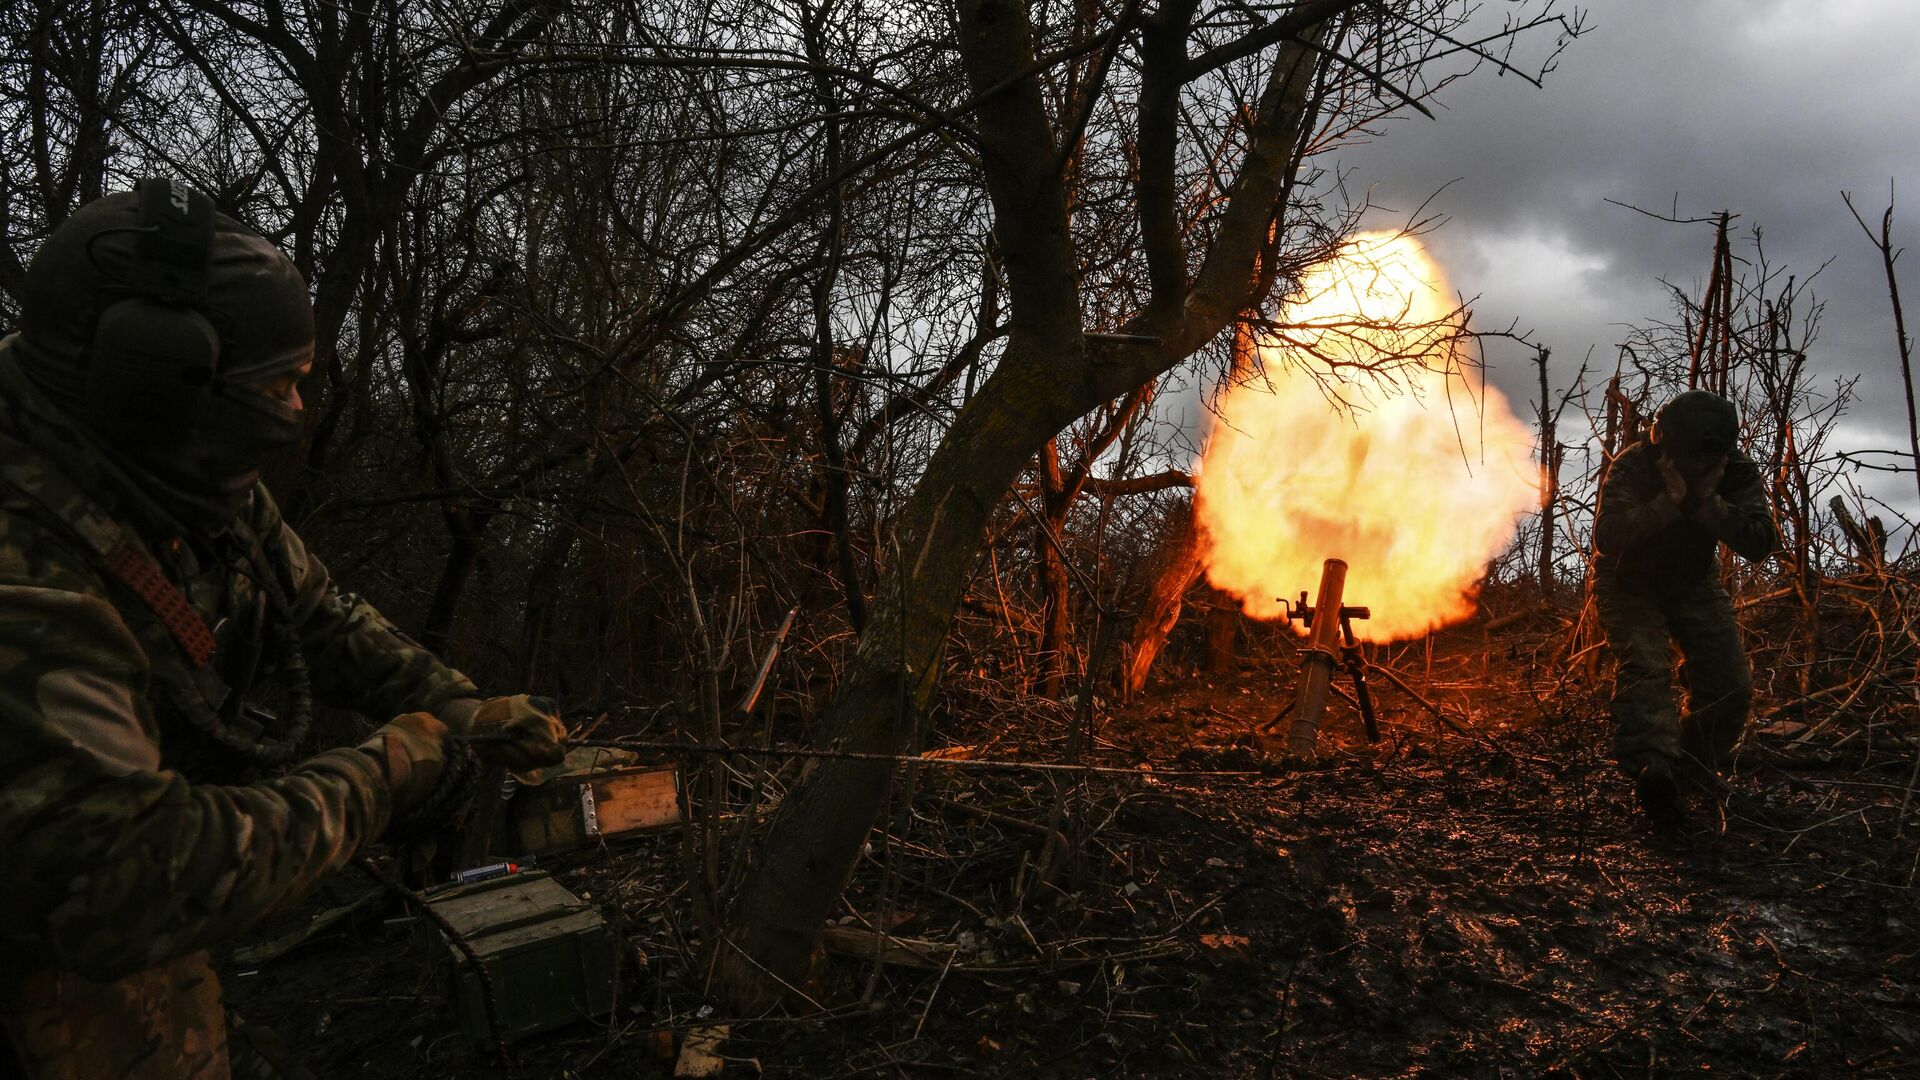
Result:
<svg viewBox="0 0 1920 1080"><path fill-rule="evenodd" d="M321 700L382 723L411 711L461 719L472 711L480 698L472 680L394 628L365 598L342 592L321 559L280 521L265 488L255 488L255 505L261 507L255 528L261 536L276 536L286 559L300 644Z"/></svg>

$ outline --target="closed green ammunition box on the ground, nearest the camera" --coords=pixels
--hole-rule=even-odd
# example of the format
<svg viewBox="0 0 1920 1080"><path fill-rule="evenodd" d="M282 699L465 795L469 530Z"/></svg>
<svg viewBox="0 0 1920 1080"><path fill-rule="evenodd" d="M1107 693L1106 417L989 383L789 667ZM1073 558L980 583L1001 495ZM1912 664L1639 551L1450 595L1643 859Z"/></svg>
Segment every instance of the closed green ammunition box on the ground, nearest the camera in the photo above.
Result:
<svg viewBox="0 0 1920 1080"><path fill-rule="evenodd" d="M501 1038L513 1042L612 1009L614 940L599 911L532 871L451 888L426 901L467 940L493 984ZM492 1045L486 994L459 945L420 920L444 969L461 1030Z"/></svg>

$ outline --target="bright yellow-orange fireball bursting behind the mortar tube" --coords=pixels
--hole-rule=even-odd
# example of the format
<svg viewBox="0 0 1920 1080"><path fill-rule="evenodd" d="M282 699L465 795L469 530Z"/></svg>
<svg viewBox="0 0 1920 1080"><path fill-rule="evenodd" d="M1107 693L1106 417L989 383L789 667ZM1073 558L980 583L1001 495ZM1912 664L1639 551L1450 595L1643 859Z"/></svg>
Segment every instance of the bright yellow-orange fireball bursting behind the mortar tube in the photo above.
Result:
<svg viewBox="0 0 1920 1080"><path fill-rule="evenodd" d="M1457 313L1413 238L1361 234L1302 290L1283 315L1302 329L1261 344L1265 379L1227 392L1202 457L1208 578L1277 619L1277 598L1311 601L1321 561L1338 557L1346 603L1373 611L1354 623L1365 640L1467 619L1486 561L1540 502L1532 432L1492 386L1478 413L1457 369L1448 386ZM1344 365L1398 369L1350 379Z"/></svg>

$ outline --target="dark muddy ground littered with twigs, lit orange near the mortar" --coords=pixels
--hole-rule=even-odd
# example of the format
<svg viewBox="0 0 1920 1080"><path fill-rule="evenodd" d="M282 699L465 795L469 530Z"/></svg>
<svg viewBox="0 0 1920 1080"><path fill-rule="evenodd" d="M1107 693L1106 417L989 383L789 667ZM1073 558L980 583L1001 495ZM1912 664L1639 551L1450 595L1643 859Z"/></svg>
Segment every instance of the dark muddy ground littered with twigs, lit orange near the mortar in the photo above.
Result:
<svg viewBox="0 0 1920 1080"><path fill-rule="evenodd" d="M555 865L630 944L620 1003L515 1043L511 1072L380 919L225 978L319 1076L666 1076L718 1024L728 1076L1920 1074L1908 744L1755 734L1663 840L1607 761L1599 688L1534 644L1386 657L1467 734L1377 680L1382 742L1336 700L1313 769L1246 746L1290 698L1284 655L1102 717L1092 759L1139 776L922 769L841 919L889 924L918 967L828 957L812 1017L701 997L672 836ZM1060 759L1069 723L943 734ZM1071 857L1044 880L1056 805Z"/></svg>

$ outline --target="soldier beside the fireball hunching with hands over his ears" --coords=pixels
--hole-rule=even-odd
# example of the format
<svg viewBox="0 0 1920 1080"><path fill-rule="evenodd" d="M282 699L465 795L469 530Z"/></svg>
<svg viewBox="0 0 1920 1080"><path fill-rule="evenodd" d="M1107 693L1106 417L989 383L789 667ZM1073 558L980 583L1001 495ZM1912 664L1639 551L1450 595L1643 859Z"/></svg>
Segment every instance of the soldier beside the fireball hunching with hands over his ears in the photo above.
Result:
<svg viewBox="0 0 1920 1080"><path fill-rule="evenodd" d="M1718 774L1753 700L1718 552L1726 544L1747 561L1764 559L1774 521L1738 436L1732 402L1680 394L1661 407L1647 442L1613 459L1594 515L1594 598L1619 661L1615 757L1663 828L1684 821L1680 780ZM1686 717L1674 711L1672 644L1686 661Z"/></svg>

